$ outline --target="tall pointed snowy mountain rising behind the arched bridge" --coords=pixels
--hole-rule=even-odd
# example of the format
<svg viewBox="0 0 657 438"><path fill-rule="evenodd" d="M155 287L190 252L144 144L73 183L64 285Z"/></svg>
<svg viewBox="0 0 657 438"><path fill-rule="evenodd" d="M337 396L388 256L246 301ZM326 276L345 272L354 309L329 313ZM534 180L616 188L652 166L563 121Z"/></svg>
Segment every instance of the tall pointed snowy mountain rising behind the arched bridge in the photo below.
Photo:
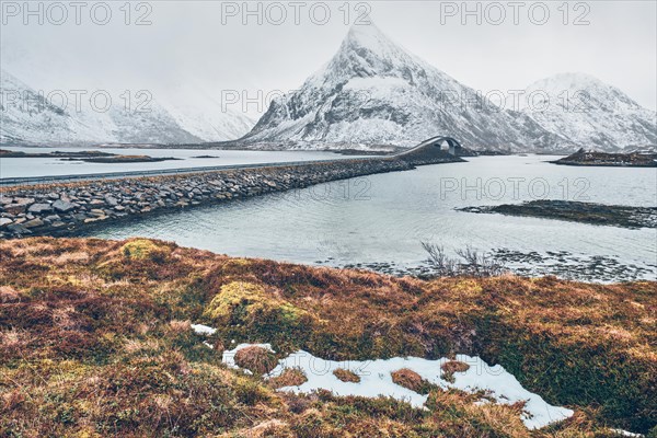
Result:
<svg viewBox="0 0 657 438"><path fill-rule="evenodd" d="M331 61L300 90L275 100L241 141L354 148L414 146L437 135L474 149L573 148L528 115L485 102L373 24L353 26Z"/></svg>

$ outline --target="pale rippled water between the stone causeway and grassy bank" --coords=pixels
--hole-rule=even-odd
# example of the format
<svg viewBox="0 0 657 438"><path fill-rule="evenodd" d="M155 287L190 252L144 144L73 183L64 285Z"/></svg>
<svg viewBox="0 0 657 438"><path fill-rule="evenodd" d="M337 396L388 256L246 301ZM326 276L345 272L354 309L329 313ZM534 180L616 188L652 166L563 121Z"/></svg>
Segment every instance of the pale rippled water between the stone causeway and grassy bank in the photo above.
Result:
<svg viewBox="0 0 657 438"><path fill-rule="evenodd" d="M426 254L420 242L428 241L442 244L450 253L471 245L483 251L553 254L542 262L544 266L538 274L558 273L563 264L575 265L577 270L578 263L611 260L618 272L634 265L648 269L641 277L654 278L655 229L454 210L540 198L657 205L655 169L548 163L553 159L469 158L468 163L419 166L168 212L103 226L85 234L110 239L150 237L234 256L332 266L384 263L403 268L423 265ZM528 258L518 264L541 265Z"/></svg>

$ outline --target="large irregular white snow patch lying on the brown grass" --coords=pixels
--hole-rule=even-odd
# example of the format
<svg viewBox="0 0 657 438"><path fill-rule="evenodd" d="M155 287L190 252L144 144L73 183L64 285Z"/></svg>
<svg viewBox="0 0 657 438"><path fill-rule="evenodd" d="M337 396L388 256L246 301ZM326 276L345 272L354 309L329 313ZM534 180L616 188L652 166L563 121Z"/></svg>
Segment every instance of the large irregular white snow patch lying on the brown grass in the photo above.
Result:
<svg viewBox="0 0 657 438"><path fill-rule="evenodd" d="M223 351L222 361L230 368L239 369L234 355L242 348L258 346L272 350L269 344L240 344L233 349ZM457 355L456 360L466 364L470 368L463 372L453 373L453 382L441 378L442 365L448 358L429 360L417 357L395 357L374 360L324 360L308 351L299 350L280 359L278 366L264 378L280 376L286 369L297 368L303 371L307 382L299 387L286 387L280 391L310 393L315 390L327 390L335 395L357 395L376 397L379 395L410 403L415 407L424 406L427 395L403 388L392 381L391 372L406 368L415 371L429 383L442 389L458 389L466 392L484 391L486 395L502 404L525 402L522 422L530 429L540 428L551 423L560 422L573 415L573 411L552 406L540 395L527 391L518 380L502 366L488 366L479 357ZM359 382L344 382L334 376L336 369L346 369L356 373Z"/></svg>

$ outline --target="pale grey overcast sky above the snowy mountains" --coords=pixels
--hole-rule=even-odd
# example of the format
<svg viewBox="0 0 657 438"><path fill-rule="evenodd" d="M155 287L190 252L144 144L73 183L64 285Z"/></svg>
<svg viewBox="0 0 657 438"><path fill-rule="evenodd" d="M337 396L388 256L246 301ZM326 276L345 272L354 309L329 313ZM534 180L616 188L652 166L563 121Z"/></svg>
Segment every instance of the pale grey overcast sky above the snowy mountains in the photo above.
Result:
<svg viewBox="0 0 657 438"><path fill-rule="evenodd" d="M176 89L217 99L234 90L255 101L258 90L264 99L300 87L350 25L371 20L401 46L484 92L579 71L657 107L655 1L516 8L472 1L468 10L461 1L251 2L249 10L242 1L49 4L32 2L26 11L22 1L2 2L1 66L39 90L147 89L155 100ZM264 110L246 107L252 115Z"/></svg>

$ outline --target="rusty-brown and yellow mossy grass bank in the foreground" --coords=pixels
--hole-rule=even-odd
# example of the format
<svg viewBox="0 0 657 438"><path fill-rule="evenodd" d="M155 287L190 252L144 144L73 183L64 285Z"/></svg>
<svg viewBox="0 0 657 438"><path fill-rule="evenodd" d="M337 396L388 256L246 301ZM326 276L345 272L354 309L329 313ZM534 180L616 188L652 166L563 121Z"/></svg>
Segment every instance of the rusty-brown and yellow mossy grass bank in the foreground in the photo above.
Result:
<svg viewBox="0 0 657 438"><path fill-rule="evenodd" d="M423 281L147 240L9 240L0 257L0 436L657 433L657 283ZM284 394L221 364L232 339L331 359L480 355L576 414L529 431L520 406L459 391L431 390L428 410Z"/></svg>

